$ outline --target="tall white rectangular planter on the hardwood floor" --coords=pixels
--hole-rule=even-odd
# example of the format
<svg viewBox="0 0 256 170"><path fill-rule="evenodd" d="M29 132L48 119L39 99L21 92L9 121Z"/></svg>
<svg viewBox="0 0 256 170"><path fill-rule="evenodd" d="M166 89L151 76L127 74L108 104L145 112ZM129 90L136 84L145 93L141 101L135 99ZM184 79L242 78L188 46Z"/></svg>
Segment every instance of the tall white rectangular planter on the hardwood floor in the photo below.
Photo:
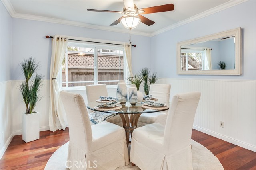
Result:
<svg viewBox="0 0 256 170"><path fill-rule="evenodd" d="M25 142L39 139L39 112L22 113L22 140Z"/></svg>

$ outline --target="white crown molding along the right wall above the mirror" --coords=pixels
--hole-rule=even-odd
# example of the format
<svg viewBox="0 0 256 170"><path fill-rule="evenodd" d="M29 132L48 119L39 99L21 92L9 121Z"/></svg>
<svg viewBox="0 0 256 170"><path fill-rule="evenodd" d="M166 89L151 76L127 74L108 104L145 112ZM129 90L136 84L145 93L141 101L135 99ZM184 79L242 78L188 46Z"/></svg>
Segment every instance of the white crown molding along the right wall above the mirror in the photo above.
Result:
<svg viewBox="0 0 256 170"><path fill-rule="evenodd" d="M174 29L174 28L179 27L181 25L185 25L187 23L190 23L192 21L198 20L200 18L204 18L206 16L209 16L211 14L220 12L222 10L231 8L232 6L236 6L236 5L241 4L243 2L246 2L246 1L248 1L248 0L230 0L230 1L226 2L226 3L224 3L224 4L216 6L215 8L211 8L210 10L206 10L206 11L200 13L200 14L196 14L196 15L194 15L194 16L186 19L186 20L183 20L183 21L174 23L174 24L172 24L172 25L170 25L168 27L164 27L162 29L159 29L158 31L155 31L155 32L151 33L150 36L153 37L153 36L158 35L160 33L164 33L164 32L166 32L168 30Z"/></svg>

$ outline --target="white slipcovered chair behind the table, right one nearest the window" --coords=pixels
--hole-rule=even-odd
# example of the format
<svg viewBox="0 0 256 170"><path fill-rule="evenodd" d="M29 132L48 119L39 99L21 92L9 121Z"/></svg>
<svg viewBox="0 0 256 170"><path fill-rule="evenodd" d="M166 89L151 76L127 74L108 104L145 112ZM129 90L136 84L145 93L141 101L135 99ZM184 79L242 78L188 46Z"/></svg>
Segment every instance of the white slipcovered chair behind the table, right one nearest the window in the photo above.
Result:
<svg viewBox="0 0 256 170"><path fill-rule="evenodd" d="M154 98L157 98L159 102L169 104L170 90L170 84L150 84L149 95L152 95ZM160 123L161 125L165 125L167 113L168 110L142 114L138 119L137 127L142 127L152 123Z"/></svg>

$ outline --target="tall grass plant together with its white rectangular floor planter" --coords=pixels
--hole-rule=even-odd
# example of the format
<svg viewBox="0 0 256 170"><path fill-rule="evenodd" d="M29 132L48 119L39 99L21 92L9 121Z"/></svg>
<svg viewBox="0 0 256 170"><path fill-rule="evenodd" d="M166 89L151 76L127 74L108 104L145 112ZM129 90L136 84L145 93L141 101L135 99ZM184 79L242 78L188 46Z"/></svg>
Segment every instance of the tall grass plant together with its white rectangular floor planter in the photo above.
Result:
<svg viewBox="0 0 256 170"><path fill-rule="evenodd" d="M39 113L34 109L38 101L42 99L39 92L44 76L36 74L34 80L30 80L38 67L39 63L36 63L35 59L31 57L20 62L20 68L25 77L19 86L26 105L26 113L22 114L22 139L25 142L39 139Z"/></svg>

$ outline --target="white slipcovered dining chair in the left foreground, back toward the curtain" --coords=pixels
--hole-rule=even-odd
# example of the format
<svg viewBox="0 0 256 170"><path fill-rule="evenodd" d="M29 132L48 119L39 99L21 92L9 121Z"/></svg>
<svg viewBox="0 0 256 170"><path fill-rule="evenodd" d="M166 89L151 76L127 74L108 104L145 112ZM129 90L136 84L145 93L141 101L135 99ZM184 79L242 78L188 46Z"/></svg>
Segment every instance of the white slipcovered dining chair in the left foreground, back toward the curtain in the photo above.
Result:
<svg viewBox="0 0 256 170"><path fill-rule="evenodd" d="M109 122L91 126L80 94L60 92L69 128L67 168L116 169L129 164L124 128Z"/></svg>

